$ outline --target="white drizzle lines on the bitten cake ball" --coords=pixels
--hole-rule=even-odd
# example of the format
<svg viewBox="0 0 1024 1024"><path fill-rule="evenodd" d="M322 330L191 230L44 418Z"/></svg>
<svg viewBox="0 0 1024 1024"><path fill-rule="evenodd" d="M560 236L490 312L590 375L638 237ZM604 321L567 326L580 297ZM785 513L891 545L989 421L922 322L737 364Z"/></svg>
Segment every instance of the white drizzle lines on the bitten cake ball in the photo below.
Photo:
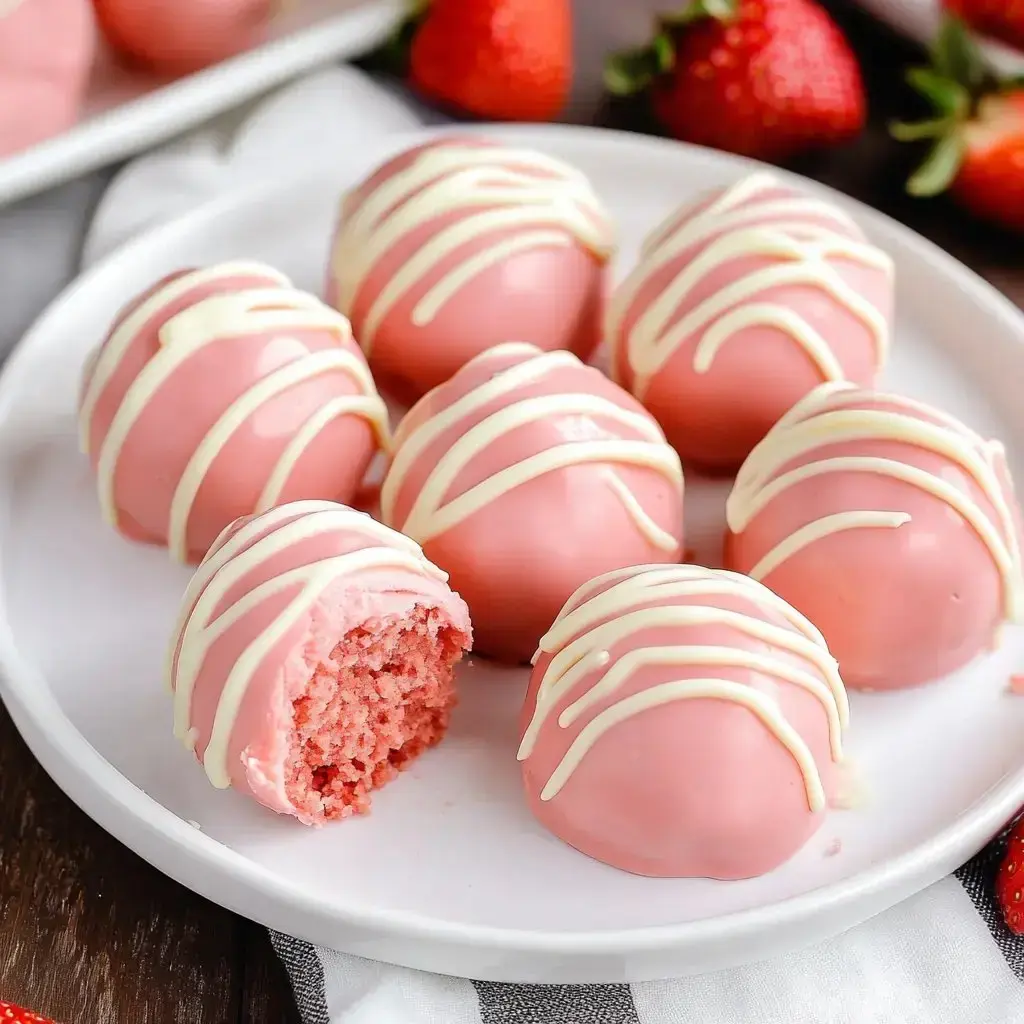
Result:
<svg viewBox="0 0 1024 1024"><path fill-rule="evenodd" d="M260 565L295 544L332 532L361 535L367 546L288 569L221 607L232 589ZM168 684L174 693L174 734L188 749L197 741L190 721L193 693L210 648L263 601L291 592L279 614L240 653L221 690L203 753L203 766L215 786L230 784L227 756L231 731L246 691L274 645L338 579L383 568L447 580L415 542L362 512L333 502L280 506L250 520L226 542L218 540L214 545L185 592L167 660Z"/></svg>

